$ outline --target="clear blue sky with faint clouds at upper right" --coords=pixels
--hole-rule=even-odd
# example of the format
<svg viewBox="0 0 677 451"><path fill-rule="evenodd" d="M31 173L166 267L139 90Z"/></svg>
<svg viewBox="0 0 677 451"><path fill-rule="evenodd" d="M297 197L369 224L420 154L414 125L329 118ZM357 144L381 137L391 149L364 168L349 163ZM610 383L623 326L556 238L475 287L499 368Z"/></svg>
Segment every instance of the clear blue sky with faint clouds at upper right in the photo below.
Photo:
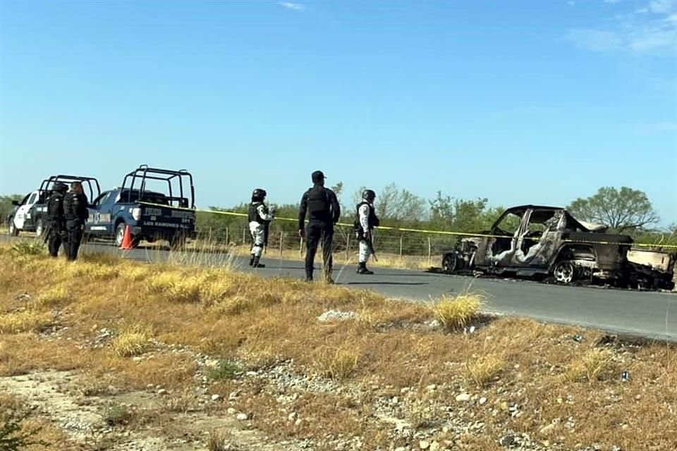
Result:
<svg viewBox="0 0 677 451"><path fill-rule="evenodd" d="M0 193L186 168L199 206L350 194L677 221L677 0L3 1Z"/></svg>

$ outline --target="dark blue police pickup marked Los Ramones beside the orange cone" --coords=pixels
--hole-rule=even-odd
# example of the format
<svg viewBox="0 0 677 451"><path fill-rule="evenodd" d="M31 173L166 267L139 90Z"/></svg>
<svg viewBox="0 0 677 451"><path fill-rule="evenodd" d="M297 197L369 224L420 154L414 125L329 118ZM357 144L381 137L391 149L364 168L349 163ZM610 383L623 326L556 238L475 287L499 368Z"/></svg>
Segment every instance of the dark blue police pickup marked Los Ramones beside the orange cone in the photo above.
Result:
<svg viewBox="0 0 677 451"><path fill-rule="evenodd" d="M150 190L152 187L161 189ZM180 246L195 237L195 188L188 171L139 166L122 187L102 192L90 205L85 237L113 238L121 245L130 226L132 246L141 240L167 240Z"/></svg>

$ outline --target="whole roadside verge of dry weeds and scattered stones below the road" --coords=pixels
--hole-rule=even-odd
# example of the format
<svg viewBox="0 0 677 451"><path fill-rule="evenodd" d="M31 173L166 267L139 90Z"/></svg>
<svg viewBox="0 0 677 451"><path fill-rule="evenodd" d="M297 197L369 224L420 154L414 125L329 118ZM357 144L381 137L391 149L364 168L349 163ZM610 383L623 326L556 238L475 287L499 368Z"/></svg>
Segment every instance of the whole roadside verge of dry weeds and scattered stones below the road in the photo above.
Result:
<svg viewBox="0 0 677 451"><path fill-rule="evenodd" d="M211 428L212 417L290 449L427 440L491 450L507 435L530 450L675 444L677 357L664 343L487 319L480 306L490 299L472 293L431 307L219 268L96 255L67 264L3 246L0 264L0 381L74 372L74 397L113 402L97 412L118 443L147 428L174 443L170 426L199 412L212 438L195 443L214 449L243 439ZM319 321L327 311L354 316ZM45 424L44 440L55 440L58 422Z"/></svg>

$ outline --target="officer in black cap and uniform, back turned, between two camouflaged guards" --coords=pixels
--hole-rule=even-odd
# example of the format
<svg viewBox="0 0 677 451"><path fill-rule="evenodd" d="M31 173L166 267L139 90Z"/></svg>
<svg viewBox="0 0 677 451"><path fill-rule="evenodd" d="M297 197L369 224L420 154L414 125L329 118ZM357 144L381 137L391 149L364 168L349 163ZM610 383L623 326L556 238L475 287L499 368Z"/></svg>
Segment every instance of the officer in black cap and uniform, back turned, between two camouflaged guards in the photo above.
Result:
<svg viewBox="0 0 677 451"><path fill-rule="evenodd" d="M324 173L312 173L312 188L303 193L298 209L298 235L307 237L305 253L305 280L312 281L312 267L315 264L317 245L322 240L322 260L324 266L324 280L334 283L331 278L333 259L331 258L331 243L334 238L334 224L341 217L341 206L336 194L324 187ZM308 226L304 230L305 215L308 214Z"/></svg>

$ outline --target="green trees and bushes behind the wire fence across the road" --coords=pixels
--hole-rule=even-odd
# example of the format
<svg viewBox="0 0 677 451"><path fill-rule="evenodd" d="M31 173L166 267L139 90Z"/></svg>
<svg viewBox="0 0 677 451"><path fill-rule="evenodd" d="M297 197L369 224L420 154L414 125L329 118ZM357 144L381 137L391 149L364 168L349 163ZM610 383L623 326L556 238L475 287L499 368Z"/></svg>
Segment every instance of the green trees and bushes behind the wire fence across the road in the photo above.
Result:
<svg viewBox="0 0 677 451"><path fill-rule="evenodd" d="M343 223L355 220L355 205L360 202L364 187L348 196L343 191L343 183L331 187L341 203ZM23 195L11 194L0 196L0 218L7 218L13 206L13 200L21 200ZM377 192L375 202L377 215L382 226L396 228L425 228L457 232L479 232L488 230L494 221L505 211L503 206L489 206L489 199L458 199L449 194L437 192L433 199L425 199L413 192L390 183ZM243 202L231 208L210 206L216 211L235 211L246 214L248 203ZM660 230L657 228L660 218L652 202L645 192L630 187L600 187L590 197L573 200L566 209L580 220L602 223L611 232L631 235L636 241L661 242L675 244L677 242L677 224ZM298 204L276 205L276 216L296 218ZM201 230L224 228L244 228L246 219L237 216L226 216L199 212L197 226ZM289 233L296 232L293 221L274 221L274 230ZM346 233L343 231L342 233ZM382 235L382 234L381 234Z"/></svg>

